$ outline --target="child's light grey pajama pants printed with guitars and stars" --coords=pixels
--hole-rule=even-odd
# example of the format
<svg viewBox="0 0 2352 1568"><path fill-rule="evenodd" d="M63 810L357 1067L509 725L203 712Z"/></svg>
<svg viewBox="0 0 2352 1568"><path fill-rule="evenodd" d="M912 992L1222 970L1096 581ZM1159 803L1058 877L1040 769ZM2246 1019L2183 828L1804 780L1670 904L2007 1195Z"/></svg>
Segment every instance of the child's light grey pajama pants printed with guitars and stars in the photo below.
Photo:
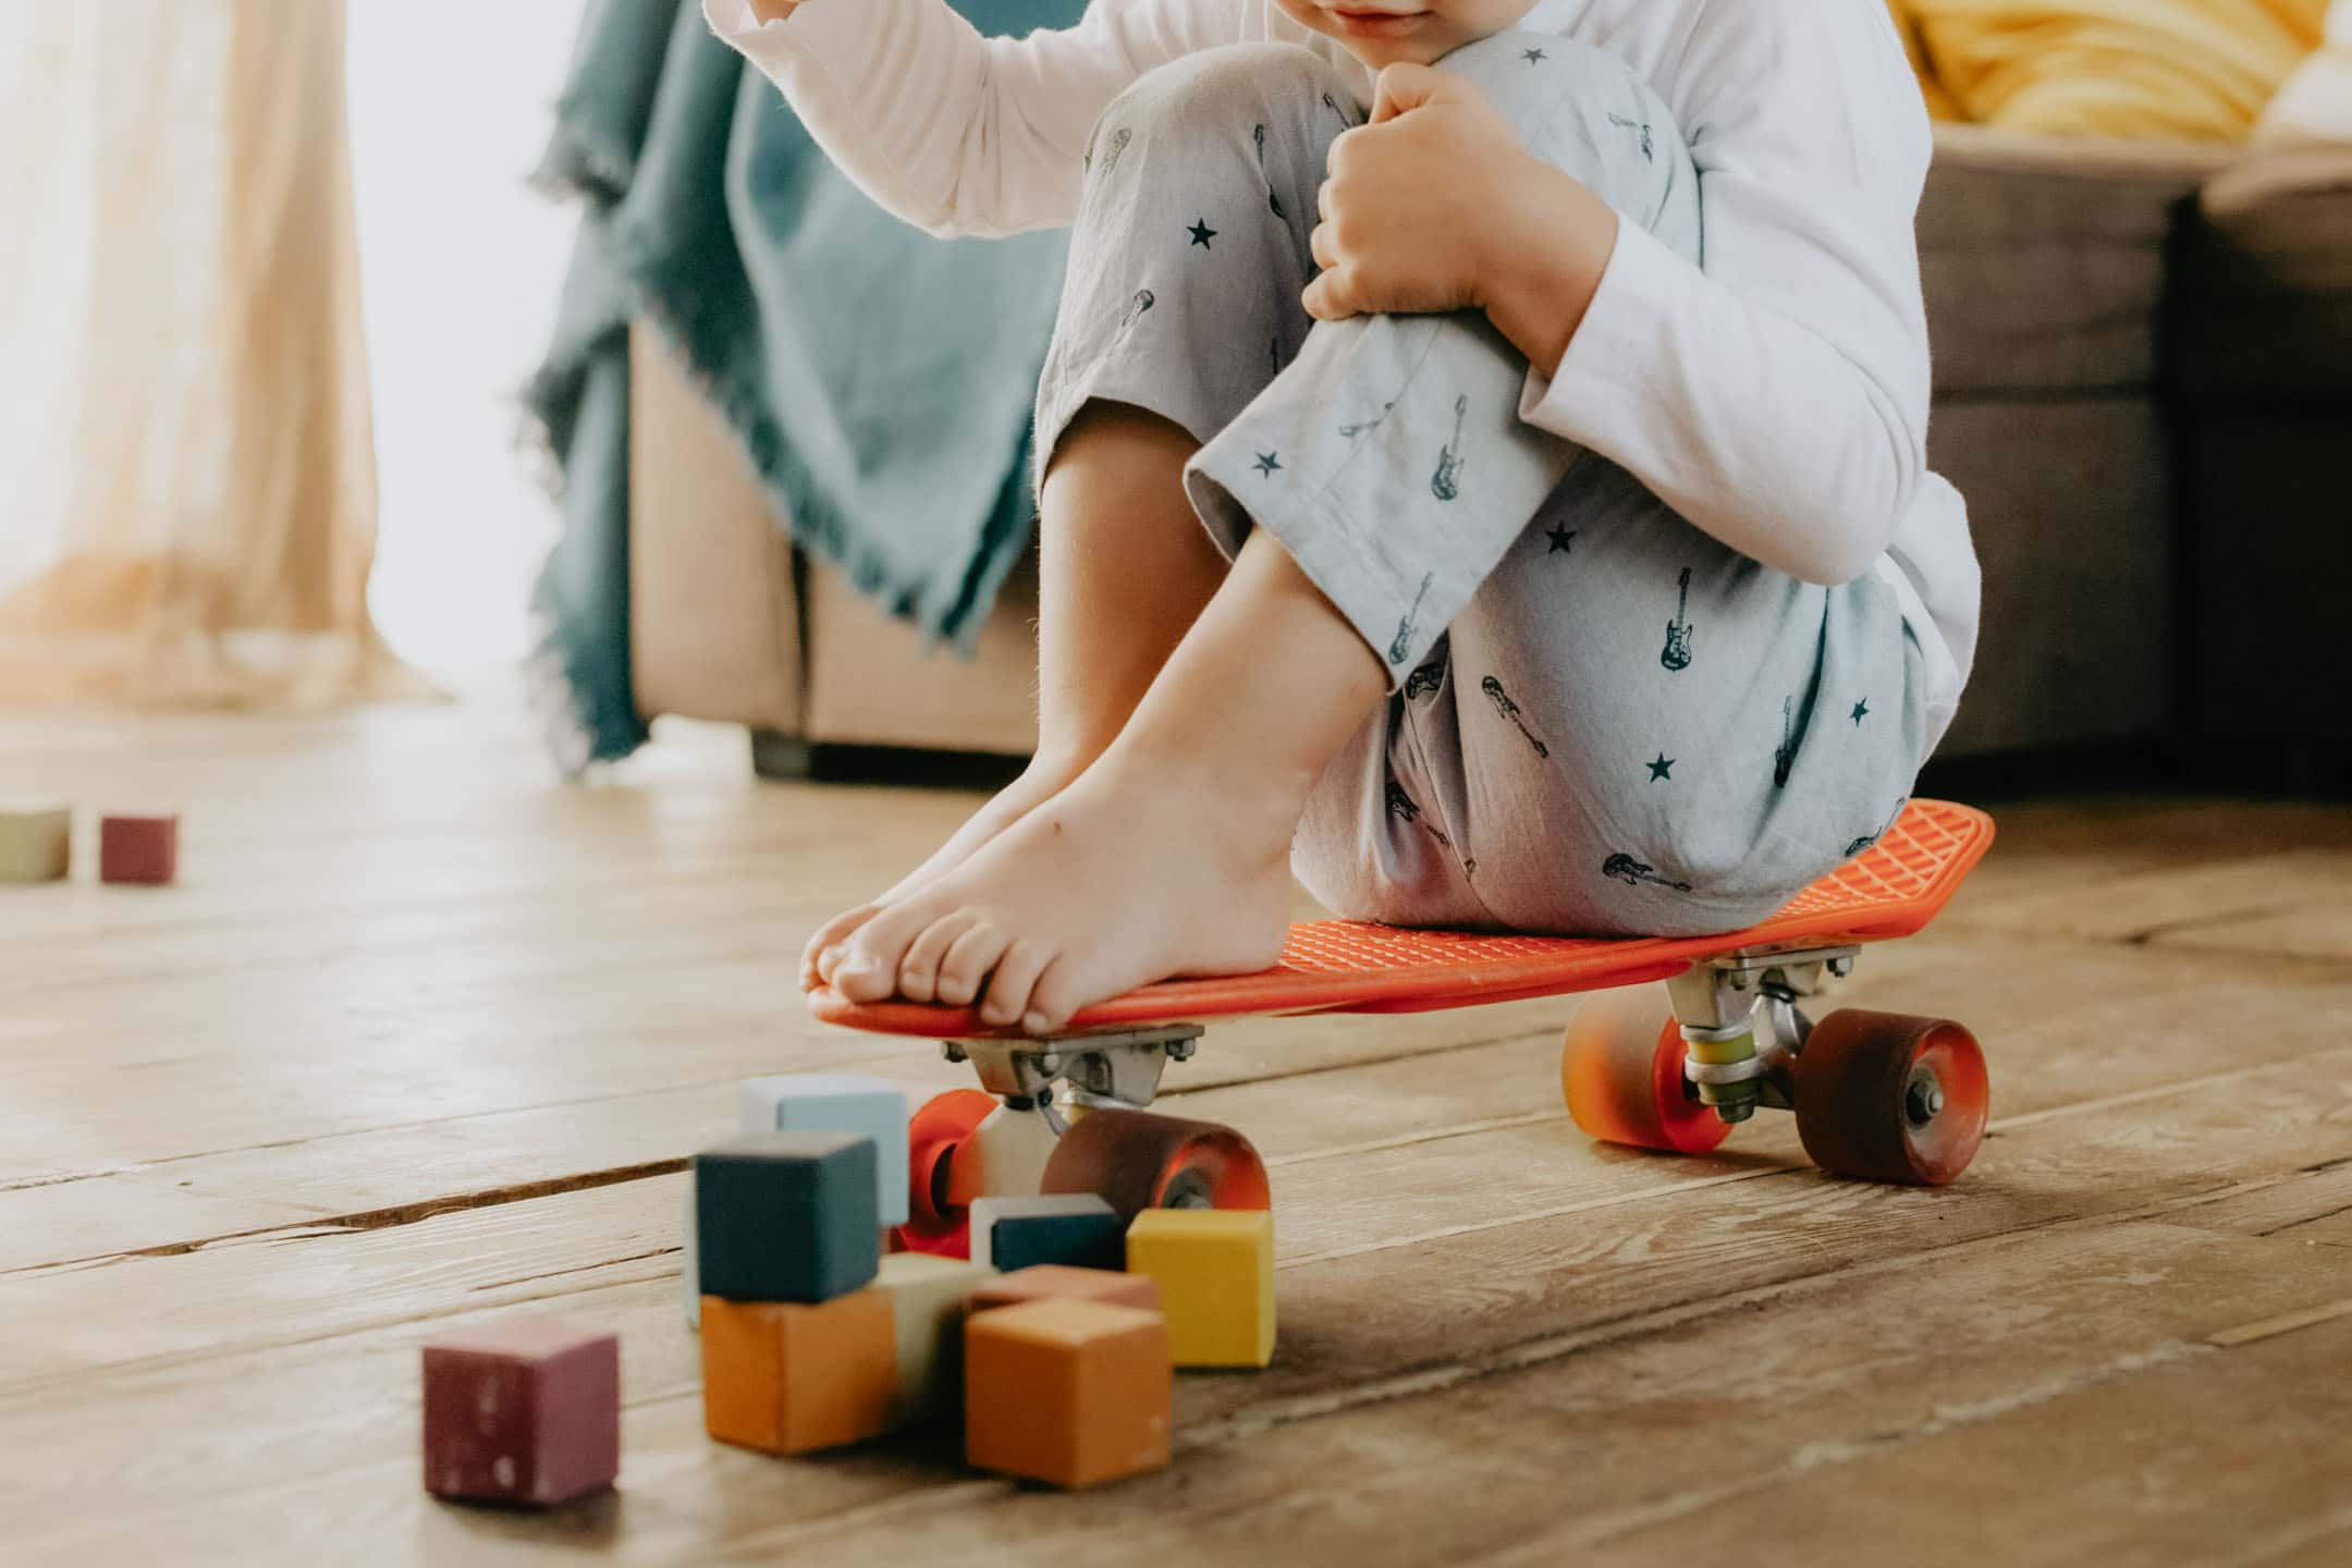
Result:
<svg viewBox="0 0 2352 1568"><path fill-rule="evenodd" d="M1623 63L1503 33L1442 66L1698 259L1698 174ZM1216 543L1268 529L1388 663L1291 851L1334 912L1590 936L1771 914L1910 795L1924 665L1893 590L1762 567L1519 421L1526 360L1477 313L1315 322L1315 193L1359 120L1294 45L1192 54L1110 103L1040 477L1089 400L1174 421Z"/></svg>

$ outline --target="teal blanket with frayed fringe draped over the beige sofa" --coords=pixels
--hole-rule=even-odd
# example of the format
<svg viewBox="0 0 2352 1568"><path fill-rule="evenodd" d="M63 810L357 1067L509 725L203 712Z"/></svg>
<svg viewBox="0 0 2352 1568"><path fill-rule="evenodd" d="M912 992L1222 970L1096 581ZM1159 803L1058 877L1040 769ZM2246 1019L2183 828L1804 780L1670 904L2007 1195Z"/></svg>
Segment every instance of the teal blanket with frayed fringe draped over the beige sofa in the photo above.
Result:
<svg viewBox="0 0 2352 1568"><path fill-rule="evenodd" d="M955 0L983 33L1080 0ZM1065 235L931 240L868 202L691 0L588 0L541 179L586 200L524 390L562 468L539 578L567 766L644 741L628 679L628 322L682 355L793 538L969 649L1028 545L1030 400ZM635 527L691 527L642 517Z"/></svg>

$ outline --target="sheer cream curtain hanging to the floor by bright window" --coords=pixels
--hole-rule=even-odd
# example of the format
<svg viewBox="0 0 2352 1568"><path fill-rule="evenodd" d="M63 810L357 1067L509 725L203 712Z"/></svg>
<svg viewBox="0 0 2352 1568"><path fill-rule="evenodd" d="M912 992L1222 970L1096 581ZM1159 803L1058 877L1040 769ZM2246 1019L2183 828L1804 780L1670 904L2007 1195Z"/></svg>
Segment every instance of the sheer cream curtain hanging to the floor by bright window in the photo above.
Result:
<svg viewBox="0 0 2352 1568"><path fill-rule="evenodd" d="M0 703L414 691L343 0L0 0Z"/></svg>

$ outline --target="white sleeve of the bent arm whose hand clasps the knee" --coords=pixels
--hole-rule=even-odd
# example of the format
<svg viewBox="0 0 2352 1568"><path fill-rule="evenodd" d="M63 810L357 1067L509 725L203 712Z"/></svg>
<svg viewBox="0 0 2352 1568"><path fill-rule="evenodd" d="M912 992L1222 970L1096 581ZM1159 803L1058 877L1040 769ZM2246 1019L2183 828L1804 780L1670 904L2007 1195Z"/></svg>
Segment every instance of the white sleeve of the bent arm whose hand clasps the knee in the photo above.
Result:
<svg viewBox="0 0 2352 1568"><path fill-rule="evenodd" d="M1740 555L1853 581L1926 475L1919 87L1877 2L1715 0L1672 99L1703 261L1625 221L1519 414Z"/></svg>

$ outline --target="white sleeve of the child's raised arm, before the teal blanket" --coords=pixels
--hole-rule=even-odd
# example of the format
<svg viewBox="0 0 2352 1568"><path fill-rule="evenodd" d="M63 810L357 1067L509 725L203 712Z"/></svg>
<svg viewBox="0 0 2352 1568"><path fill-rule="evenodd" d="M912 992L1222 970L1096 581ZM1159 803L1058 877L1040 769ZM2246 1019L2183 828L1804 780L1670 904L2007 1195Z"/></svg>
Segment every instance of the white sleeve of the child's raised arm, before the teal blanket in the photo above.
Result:
<svg viewBox="0 0 2352 1568"><path fill-rule="evenodd" d="M1077 26L1028 38L983 38L946 0L807 0L769 24L748 0L703 0L703 19L884 209L934 235L1011 235L1070 223L1110 99L1235 42L1242 7L1094 0Z"/></svg>

